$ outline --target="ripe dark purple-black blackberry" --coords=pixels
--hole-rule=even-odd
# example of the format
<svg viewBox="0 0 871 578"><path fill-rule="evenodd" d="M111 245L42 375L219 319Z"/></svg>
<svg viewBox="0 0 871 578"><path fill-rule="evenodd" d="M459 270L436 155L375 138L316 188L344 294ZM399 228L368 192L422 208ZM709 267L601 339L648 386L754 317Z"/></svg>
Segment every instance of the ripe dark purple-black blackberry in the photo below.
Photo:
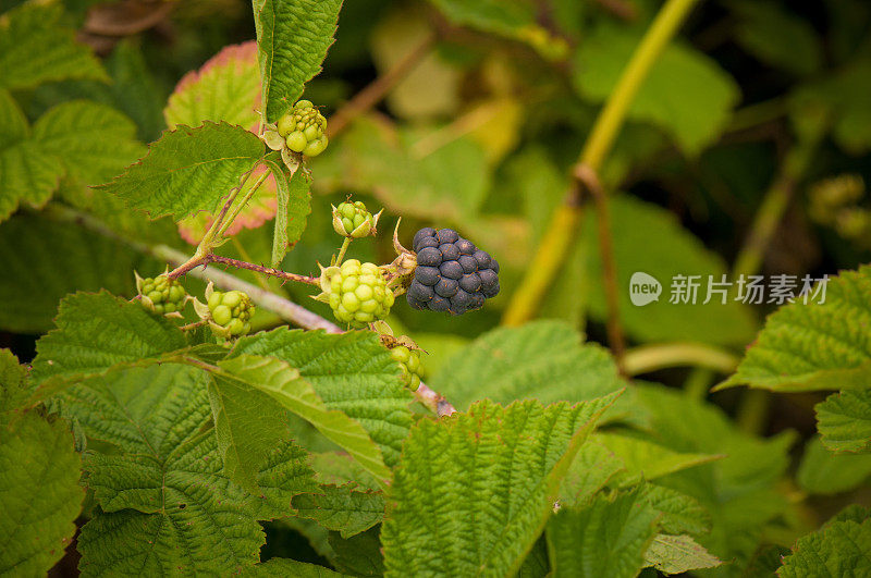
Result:
<svg viewBox="0 0 871 578"><path fill-rule="evenodd" d="M499 293L499 263L452 229L415 234L415 278L406 293L415 309L462 315Z"/></svg>

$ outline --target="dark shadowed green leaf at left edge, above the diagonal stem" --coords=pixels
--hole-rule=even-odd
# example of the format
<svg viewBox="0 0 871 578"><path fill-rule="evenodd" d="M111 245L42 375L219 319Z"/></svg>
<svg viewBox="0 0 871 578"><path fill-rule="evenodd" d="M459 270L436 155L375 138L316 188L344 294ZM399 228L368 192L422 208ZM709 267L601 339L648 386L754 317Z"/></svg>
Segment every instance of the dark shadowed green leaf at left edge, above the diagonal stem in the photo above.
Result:
<svg viewBox="0 0 871 578"><path fill-rule="evenodd" d="M0 262L15 280L0 284L0 328L34 334L52 328L66 294L107 288L133 296L132 271L158 270L155 259L121 242L36 214L0 226Z"/></svg>

